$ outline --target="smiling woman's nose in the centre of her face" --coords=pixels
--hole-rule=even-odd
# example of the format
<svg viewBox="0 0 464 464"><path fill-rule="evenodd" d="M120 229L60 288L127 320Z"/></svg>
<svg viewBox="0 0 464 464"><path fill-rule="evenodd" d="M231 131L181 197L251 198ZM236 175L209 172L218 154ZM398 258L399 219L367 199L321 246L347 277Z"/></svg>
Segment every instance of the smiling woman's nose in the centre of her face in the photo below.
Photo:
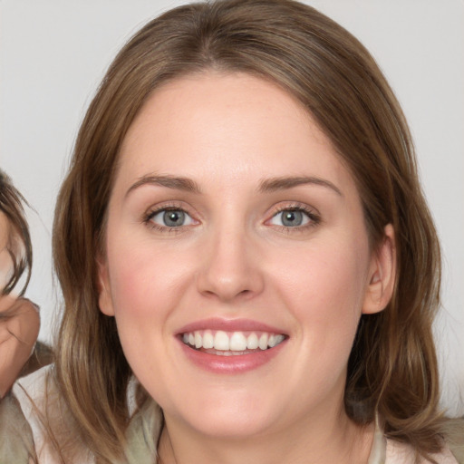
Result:
<svg viewBox="0 0 464 464"><path fill-rule="evenodd" d="M243 229L218 231L200 253L197 286L202 295L231 302L262 292L264 275L256 245Z"/></svg>

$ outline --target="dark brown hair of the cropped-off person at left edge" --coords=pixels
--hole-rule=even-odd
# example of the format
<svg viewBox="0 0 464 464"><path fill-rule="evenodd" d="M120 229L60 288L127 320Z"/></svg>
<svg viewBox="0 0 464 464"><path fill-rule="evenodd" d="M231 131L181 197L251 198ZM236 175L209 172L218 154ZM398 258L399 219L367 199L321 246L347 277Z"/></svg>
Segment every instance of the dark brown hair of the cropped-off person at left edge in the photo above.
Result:
<svg viewBox="0 0 464 464"><path fill-rule="evenodd" d="M24 217L23 204L26 204L24 197L14 188L11 179L0 169L0 211L5 214L9 223L6 250L13 262L12 275L5 287L1 289L1 295L10 294L21 276L27 271L23 288L19 291L19 295L24 295L31 278L33 247L29 227Z"/></svg>

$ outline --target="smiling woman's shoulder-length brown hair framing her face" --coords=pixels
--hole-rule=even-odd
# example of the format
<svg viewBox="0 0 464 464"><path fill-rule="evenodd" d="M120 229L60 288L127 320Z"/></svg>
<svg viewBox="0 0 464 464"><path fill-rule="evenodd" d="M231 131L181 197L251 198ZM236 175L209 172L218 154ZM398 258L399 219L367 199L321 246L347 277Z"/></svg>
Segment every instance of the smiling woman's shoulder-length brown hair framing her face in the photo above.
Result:
<svg viewBox="0 0 464 464"><path fill-rule="evenodd" d="M391 223L397 282L380 314L363 315L349 360L348 415L376 411L388 436L421 453L441 447L431 324L440 248L401 108L372 56L314 8L284 0L227 0L170 10L144 26L111 64L82 121L56 207L53 255L63 288L59 388L82 437L104 462L121 456L131 369L113 318L98 308L95 256L121 141L150 92L208 69L276 82L310 111L351 169L375 248Z"/></svg>

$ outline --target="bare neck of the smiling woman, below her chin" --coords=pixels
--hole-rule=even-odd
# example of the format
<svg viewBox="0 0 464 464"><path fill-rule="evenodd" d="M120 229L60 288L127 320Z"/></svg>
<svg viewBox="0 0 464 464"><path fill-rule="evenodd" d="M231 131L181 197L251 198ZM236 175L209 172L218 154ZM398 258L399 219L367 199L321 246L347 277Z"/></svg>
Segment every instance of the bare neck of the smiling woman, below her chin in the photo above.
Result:
<svg viewBox="0 0 464 464"><path fill-rule="evenodd" d="M210 437L166 418L160 464L332 464L367 463L373 426L360 427L344 411L252 437Z"/></svg>

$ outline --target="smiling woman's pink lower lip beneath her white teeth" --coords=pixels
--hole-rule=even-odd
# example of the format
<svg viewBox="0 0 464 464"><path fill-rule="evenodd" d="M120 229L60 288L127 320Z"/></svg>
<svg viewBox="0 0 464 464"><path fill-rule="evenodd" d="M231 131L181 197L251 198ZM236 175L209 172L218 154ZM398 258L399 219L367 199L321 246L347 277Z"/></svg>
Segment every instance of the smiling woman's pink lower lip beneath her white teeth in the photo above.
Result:
<svg viewBox="0 0 464 464"><path fill-rule="evenodd" d="M284 342L267 350L259 350L255 353L231 356L203 353L190 348L187 344L180 340L179 343L181 344L183 352L189 358L189 361L206 371L215 373L241 373L253 371L267 362L270 362L283 350L286 341L287 340L285 339Z"/></svg>

